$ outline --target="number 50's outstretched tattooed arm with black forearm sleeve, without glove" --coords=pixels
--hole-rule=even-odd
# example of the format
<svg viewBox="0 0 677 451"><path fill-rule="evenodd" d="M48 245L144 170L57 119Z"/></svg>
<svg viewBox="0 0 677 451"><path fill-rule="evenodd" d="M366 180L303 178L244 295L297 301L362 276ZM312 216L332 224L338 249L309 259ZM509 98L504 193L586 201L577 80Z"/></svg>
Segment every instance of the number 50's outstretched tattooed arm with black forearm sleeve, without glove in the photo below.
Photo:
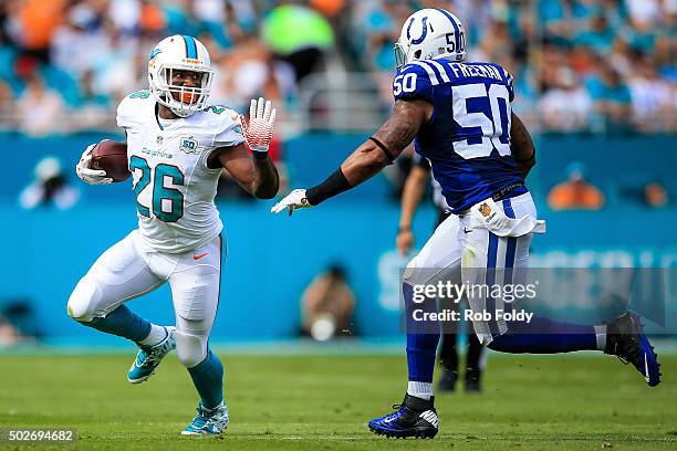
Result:
<svg viewBox="0 0 677 451"><path fill-rule="evenodd" d="M433 105L426 101L396 101L393 115L378 132L347 157L336 172L306 191L308 202L316 206L374 177L412 144L431 114Z"/></svg>

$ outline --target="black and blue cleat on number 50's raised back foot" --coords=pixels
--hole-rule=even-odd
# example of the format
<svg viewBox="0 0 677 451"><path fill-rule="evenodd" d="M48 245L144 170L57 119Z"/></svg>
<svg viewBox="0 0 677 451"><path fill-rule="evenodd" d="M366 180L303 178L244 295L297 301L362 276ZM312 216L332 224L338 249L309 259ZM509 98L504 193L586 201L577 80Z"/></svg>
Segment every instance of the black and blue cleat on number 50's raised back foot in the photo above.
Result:
<svg viewBox="0 0 677 451"><path fill-rule="evenodd" d="M624 364L633 364L649 387L660 384L660 365L639 321L639 315L625 313L607 326L605 354L618 356Z"/></svg>

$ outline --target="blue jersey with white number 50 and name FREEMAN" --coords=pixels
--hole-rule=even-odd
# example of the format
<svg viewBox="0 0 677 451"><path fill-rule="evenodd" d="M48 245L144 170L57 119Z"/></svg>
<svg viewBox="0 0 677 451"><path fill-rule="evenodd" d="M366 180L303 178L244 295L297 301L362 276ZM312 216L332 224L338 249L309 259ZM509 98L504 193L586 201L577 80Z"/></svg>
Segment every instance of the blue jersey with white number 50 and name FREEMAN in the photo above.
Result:
<svg viewBox="0 0 677 451"><path fill-rule="evenodd" d="M430 161L451 211L460 213L504 188L527 189L510 153L512 76L498 64L415 61L393 83L395 99L435 107L414 141Z"/></svg>

